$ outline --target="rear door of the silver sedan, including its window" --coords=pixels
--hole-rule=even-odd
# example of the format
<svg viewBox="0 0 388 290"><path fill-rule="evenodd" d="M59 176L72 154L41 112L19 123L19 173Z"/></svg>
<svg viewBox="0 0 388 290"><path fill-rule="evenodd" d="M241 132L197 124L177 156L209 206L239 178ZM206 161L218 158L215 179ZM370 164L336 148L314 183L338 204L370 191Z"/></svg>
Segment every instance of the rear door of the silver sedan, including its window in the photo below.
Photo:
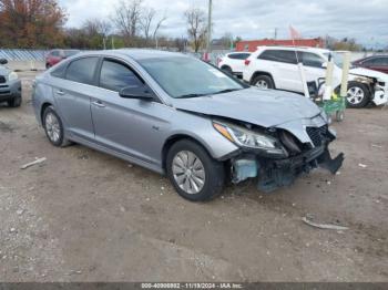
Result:
<svg viewBox="0 0 388 290"><path fill-rule="evenodd" d="M53 82L58 111L67 130L73 136L88 141L94 139L90 99L96 90L98 63L98 56L76 59L65 66L63 76L54 77L57 80ZM62 68L59 66L59 70Z"/></svg>

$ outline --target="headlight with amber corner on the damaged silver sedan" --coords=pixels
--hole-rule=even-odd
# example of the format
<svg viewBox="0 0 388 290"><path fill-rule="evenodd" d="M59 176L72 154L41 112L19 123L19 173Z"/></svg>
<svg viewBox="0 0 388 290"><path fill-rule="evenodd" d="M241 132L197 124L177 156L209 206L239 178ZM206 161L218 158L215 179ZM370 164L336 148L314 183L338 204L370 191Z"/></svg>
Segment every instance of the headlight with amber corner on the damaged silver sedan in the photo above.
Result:
<svg viewBox="0 0 388 290"><path fill-rule="evenodd" d="M221 122L213 122L213 126L221 135L241 147L264 149L274 154L285 153L283 147L277 146L277 141L272 136Z"/></svg>

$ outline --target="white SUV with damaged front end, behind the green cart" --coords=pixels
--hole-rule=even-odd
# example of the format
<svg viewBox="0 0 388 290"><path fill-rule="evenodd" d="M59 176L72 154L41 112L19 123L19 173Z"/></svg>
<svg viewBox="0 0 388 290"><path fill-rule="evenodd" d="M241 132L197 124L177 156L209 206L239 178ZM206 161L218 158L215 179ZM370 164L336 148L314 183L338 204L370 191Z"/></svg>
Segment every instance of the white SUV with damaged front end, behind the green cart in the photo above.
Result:
<svg viewBox="0 0 388 290"><path fill-rule="evenodd" d="M244 81L259 87L303 93L297 63L304 65L307 82L317 82L326 75L329 55L335 59L333 83L341 83L339 53L316 48L261 46L245 60ZM388 97L388 76L366 69L350 70L347 103L350 107L364 107L370 101L376 104ZM382 91L382 94L381 94ZM382 99L382 100L381 100Z"/></svg>

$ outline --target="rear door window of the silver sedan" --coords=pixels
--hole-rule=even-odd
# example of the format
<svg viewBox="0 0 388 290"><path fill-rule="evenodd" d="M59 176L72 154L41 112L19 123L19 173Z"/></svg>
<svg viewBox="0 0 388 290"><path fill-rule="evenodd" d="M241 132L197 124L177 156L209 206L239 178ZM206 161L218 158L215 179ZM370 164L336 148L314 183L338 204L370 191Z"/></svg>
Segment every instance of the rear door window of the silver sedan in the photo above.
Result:
<svg viewBox="0 0 388 290"><path fill-rule="evenodd" d="M93 84L98 61L99 58L95 56L72 61L68 66L65 79L78 83Z"/></svg>

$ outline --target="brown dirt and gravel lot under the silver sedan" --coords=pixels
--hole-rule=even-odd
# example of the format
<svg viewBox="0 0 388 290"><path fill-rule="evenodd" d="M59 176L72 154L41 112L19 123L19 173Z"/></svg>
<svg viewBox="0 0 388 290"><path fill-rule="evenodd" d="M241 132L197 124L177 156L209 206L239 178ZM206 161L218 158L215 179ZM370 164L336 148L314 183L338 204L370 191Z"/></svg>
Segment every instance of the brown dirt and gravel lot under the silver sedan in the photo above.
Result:
<svg viewBox="0 0 388 290"><path fill-rule="evenodd" d="M388 110L348 110L334 125L339 175L269 195L245 183L192 204L163 176L51 146L33 116L33 73L22 77L22 107L0 106L1 281L388 281ZM306 215L349 229L316 229Z"/></svg>

